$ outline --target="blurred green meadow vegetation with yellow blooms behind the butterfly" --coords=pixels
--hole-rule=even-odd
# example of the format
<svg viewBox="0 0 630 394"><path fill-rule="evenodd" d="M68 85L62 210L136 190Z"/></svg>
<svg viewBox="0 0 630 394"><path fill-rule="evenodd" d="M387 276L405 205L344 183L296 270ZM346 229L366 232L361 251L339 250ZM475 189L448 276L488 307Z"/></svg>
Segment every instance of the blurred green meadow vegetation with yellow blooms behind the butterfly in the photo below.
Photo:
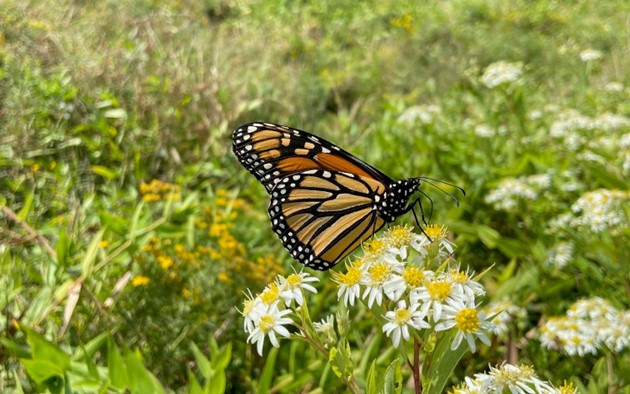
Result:
<svg viewBox="0 0 630 394"><path fill-rule="evenodd" d="M538 340L578 299L630 308L629 21L620 1L1 0L0 391L341 390L304 345L245 344L243 292L296 267L231 154L235 127L266 120L466 189L460 208L431 193L433 221L464 264L494 265L488 300L527 316L453 384L510 358L630 392L627 346ZM500 61L522 74L489 87ZM597 190L615 223L576 210ZM337 305L318 276L315 320ZM357 360L396 357L353 330Z"/></svg>

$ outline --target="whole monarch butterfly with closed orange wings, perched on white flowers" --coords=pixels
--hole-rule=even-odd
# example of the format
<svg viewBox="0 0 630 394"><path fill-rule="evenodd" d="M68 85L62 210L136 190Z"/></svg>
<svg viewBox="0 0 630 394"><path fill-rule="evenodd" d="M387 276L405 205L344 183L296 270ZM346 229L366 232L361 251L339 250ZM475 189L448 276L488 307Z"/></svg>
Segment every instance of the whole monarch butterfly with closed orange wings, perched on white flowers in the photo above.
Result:
<svg viewBox="0 0 630 394"><path fill-rule="evenodd" d="M428 177L395 182L323 138L275 123L238 127L232 150L270 194L271 226L284 247L316 270L332 268L409 210L418 222L413 207L420 197L408 201L416 191L426 196L419 190L421 181L444 183L465 194ZM420 210L424 221L422 205Z"/></svg>

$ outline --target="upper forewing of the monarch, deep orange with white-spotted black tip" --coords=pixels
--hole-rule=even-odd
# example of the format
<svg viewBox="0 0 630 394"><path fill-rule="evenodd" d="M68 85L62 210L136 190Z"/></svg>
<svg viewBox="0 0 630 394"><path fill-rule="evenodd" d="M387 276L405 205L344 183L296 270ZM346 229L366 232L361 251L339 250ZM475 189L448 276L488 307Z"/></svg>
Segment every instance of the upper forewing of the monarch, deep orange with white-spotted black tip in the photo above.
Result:
<svg viewBox="0 0 630 394"><path fill-rule="evenodd" d="M392 183L387 175L323 138L274 123L238 127L232 134L232 150L269 193L280 179L308 170L343 171Z"/></svg>

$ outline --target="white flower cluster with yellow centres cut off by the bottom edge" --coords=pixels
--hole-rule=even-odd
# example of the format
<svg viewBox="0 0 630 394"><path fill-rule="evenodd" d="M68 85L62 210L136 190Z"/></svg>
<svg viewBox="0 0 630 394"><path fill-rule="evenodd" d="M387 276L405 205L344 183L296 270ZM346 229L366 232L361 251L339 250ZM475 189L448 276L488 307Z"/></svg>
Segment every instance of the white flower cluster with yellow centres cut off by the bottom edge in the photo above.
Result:
<svg viewBox="0 0 630 394"><path fill-rule="evenodd" d="M560 394L575 393L572 386L555 388L547 381L536 376L529 365L503 364L490 367L487 373L475 374L475 378L466 377L464 383L454 387L453 394Z"/></svg>

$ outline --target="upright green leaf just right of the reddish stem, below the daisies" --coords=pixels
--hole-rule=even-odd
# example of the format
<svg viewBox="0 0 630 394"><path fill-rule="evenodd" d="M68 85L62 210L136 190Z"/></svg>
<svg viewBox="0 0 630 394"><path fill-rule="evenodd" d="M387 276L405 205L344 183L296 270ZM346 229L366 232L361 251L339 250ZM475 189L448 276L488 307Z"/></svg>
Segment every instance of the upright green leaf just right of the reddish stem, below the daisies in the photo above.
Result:
<svg viewBox="0 0 630 394"><path fill-rule="evenodd" d="M438 338L431 364L429 364L428 370L422 375L424 377L422 384L424 393L440 394L444 392L444 386L446 386L446 382L453 373L457 363L464 353L468 351L466 341L462 341L457 349L451 350L455 334L455 330L450 330L443 332Z"/></svg>

